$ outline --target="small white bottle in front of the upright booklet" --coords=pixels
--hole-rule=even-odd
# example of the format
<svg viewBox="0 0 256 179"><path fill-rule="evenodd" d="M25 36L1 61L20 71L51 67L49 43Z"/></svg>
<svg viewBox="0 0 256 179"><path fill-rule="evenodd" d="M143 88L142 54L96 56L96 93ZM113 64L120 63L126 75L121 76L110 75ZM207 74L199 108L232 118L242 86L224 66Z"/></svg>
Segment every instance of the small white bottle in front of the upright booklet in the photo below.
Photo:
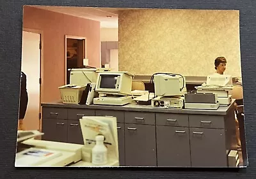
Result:
<svg viewBox="0 0 256 179"><path fill-rule="evenodd" d="M108 148L104 145L104 136L96 136L96 145L92 148L92 164L104 165L108 162Z"/></svg>

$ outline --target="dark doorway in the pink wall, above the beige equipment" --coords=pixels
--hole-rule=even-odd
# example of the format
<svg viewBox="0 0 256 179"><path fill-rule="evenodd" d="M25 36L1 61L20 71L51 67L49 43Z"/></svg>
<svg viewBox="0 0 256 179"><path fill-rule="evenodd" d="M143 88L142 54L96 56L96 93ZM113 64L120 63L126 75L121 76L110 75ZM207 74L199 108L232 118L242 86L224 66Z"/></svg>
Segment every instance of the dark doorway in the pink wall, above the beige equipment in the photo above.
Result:
<svg viewBox="0 0 256 179"><path fill-rule="evenodd" d="M84 68L83 59L86 59L86 38L65 36L65 83L69 84L70 69Z"/></svg>

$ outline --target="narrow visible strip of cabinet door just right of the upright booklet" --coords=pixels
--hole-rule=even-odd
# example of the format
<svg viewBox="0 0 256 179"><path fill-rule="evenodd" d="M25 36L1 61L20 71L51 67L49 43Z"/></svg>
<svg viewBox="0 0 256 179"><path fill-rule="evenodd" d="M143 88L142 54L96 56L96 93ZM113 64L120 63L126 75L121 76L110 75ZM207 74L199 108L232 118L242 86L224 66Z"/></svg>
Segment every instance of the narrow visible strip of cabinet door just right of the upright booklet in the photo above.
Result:
<svg viewBox="0 0 256 179"><path fill-rule="evenodd" d="M124 124L117 123L117 132L118 132L119 165L125 166Z"/></svg>

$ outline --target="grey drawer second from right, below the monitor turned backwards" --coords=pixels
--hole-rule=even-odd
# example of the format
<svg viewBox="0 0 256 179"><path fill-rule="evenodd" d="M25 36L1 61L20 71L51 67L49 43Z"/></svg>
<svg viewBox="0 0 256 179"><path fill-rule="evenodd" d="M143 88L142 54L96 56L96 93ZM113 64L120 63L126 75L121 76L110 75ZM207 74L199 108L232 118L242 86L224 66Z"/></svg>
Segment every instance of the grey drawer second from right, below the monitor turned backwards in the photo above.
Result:
<svg viewBox="0 0 256 179"><path fill-rule="evenodd" d="M156 125L188 127L188 115L172 113L156 113Z"/></svg>

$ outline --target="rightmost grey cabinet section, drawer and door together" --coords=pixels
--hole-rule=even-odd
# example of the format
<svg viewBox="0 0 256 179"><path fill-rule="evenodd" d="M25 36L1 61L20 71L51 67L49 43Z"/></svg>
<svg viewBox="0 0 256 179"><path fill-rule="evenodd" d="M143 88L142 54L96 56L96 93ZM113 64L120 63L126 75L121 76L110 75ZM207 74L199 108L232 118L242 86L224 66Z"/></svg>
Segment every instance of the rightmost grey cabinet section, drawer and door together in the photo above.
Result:
<svg viewBox="0 0 256 179"><path fill-rule="evenodd" d="M227 166L225 118L218 115L189 115L189 127L191 166Z"/></svg>

